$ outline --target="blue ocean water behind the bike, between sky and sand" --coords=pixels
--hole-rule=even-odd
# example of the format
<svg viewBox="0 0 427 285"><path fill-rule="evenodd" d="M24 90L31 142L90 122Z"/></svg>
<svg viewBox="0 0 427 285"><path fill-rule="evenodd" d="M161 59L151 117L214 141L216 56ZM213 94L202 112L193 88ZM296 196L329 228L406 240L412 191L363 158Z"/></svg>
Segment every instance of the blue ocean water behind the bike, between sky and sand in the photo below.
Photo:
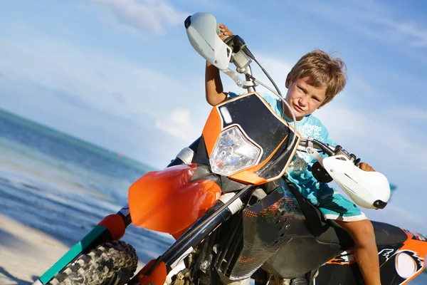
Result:
<svg viewBox="0 0 427 285"><path fill-rule="evenodd" d="M128 187L150 170L129 157L0 110L0 213L69 247L125 205ZM157 258L173 242L167 234L132 226L123 240L135 247L143 262ZM411 284L427 284L427 274Z"/></svg>

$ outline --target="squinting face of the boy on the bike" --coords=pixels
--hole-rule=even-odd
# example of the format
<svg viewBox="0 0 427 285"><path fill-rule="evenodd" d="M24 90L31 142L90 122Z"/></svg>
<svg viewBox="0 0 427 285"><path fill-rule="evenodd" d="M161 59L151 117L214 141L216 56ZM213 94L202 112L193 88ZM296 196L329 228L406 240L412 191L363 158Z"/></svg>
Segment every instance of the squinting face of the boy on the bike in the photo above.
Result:
<svg viewBox="0 0 427 285"><path fill-rule="evenodd" d="M317 88L307 83L307 78L297 79L295 82L290 82L290 75L286 78L286 100L290 108L295 113L297 120L302 120L305 115L313 113L322 105L326 99L326 87ZM292 118L288 108L285 108L285 115Z"/></svg>

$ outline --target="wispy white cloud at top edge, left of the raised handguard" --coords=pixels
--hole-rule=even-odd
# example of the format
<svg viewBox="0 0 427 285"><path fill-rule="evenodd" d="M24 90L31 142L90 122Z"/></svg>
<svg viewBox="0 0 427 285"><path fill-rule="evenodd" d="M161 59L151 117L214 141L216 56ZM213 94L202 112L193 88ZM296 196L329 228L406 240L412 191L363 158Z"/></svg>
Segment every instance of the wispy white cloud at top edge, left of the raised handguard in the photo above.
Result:
<svg viewBox="0 0 427 285"><path fill-rule="evenodd" d="M184 23L189 14L162 0L88 0L99 4L112 21L127 31L163 33L165 26Z"/></svg>

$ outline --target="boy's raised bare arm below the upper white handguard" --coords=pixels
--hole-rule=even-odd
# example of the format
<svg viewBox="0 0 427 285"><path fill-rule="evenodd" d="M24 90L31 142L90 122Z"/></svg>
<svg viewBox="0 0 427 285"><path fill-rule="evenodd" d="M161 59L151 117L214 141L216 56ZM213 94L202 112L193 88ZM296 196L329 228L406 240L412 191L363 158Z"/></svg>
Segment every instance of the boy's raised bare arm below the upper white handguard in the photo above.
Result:
<svg viewBox="0 0 427 285"><path fill-rule="evenodd" d="M205 90L206 101L213 106L226 100L228 95L223 91L218 68L209 63L209 61L206 61Z"/></svg>

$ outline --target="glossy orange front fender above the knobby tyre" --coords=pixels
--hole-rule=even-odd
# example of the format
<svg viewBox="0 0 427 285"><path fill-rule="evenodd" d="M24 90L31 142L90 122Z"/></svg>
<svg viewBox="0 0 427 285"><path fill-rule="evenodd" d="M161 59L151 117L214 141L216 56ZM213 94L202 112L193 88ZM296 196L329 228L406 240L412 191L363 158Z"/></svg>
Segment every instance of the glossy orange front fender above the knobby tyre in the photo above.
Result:
<svg viewBox="0 0 427 285"><path fill-rule="evenodd" d="M211 180L189 182L197 165L176 165L148 172L129 188L132 223L176 234L194 224L221 195Z"/></svg>

